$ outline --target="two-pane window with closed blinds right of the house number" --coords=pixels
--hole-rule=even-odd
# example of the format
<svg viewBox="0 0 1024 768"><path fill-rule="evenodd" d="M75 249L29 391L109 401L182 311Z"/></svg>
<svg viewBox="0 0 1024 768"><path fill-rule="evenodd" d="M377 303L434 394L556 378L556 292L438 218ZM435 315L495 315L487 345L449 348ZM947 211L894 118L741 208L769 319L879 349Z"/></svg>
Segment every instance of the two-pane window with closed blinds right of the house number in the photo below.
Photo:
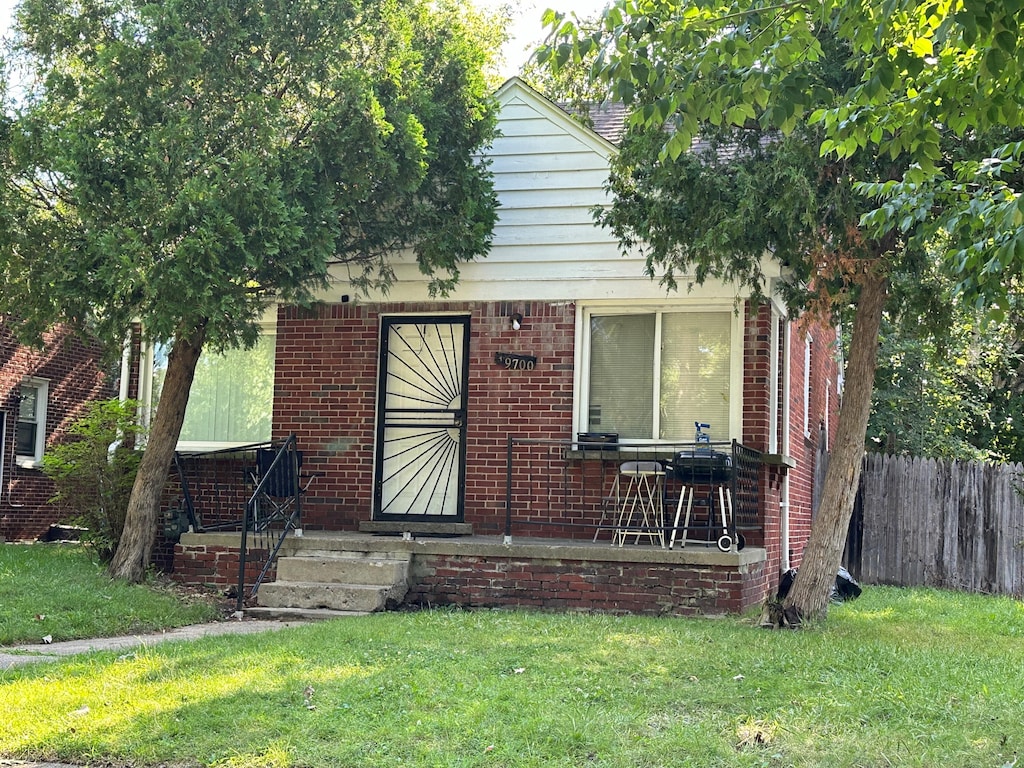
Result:
<svg viewBox="0 0 1024 768"><path fill-rule="evenodd" d="M585 313L581 425L622 440L713 439L731 433L729 311Z"/></svg>

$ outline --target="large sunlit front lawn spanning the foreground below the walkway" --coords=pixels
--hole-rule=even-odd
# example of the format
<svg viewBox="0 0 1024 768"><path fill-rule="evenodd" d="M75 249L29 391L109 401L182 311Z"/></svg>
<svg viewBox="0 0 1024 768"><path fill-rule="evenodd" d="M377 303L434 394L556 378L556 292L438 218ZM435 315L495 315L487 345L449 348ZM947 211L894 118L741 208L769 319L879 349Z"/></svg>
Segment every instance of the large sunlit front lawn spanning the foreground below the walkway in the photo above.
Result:
<svg viewBox="0 0 1024 768"><path fill-rule="evenodd" d="M800 632L383 613L0 672L0 756L102 765L1002 768L1024 605L868 587Z"/></svg>

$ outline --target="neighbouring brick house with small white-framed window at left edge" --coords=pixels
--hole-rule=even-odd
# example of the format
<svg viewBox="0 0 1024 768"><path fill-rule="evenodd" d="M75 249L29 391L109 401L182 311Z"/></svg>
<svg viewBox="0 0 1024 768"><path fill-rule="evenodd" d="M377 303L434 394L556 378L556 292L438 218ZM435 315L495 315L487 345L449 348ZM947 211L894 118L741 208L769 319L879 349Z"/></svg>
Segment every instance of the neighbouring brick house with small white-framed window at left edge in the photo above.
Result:
<svg viewBox="0 0 1024 768"><path fill-rule="evenodd" d="M0 323L0 541L36 540L58 521L53 484L40 462L85 406L117 394L96 342L66 328L40 349L19 344Z"/></svg>

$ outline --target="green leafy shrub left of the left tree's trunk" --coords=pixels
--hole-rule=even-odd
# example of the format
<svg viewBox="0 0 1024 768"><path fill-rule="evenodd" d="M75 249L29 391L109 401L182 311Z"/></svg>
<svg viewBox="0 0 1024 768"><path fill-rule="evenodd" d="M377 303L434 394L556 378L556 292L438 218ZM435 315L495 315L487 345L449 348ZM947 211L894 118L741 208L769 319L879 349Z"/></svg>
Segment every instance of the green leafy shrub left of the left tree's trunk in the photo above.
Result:
<svg viewBox="0 0 1024 768"><path fill-rule="evenodd" d="M66 520L87 528L83 541L102 561L117 550L124 529L128 498L141 452L135 449L144 428L137 423L135 400L100 400L68 429L66 442L49 446L43 471L53 480L50 502Z"/></svg>

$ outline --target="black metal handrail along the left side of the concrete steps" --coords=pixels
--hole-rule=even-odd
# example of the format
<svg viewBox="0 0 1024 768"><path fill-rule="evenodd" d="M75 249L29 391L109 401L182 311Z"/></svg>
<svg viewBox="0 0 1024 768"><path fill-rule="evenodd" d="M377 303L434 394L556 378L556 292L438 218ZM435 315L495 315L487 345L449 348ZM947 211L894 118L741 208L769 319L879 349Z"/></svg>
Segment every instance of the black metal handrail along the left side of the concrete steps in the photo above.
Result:
<svg viewBox="0 0 1024 768"><path fill-rule="evenodd" d="M246 502L245 524L239 550L239 583L237 609L246 600L246 565L249 561L250 538L254 550L265 550L267 556L249 592L252 599L259 591L270 566L273 565L288 535L301 529L302 488L299 480L301 459L296 450L295 434L290 434L265 466L257 462L254 470L256 486ZM285 493L283 493L285 492ZM280 525L280 529L279 526Z"/></svg>

